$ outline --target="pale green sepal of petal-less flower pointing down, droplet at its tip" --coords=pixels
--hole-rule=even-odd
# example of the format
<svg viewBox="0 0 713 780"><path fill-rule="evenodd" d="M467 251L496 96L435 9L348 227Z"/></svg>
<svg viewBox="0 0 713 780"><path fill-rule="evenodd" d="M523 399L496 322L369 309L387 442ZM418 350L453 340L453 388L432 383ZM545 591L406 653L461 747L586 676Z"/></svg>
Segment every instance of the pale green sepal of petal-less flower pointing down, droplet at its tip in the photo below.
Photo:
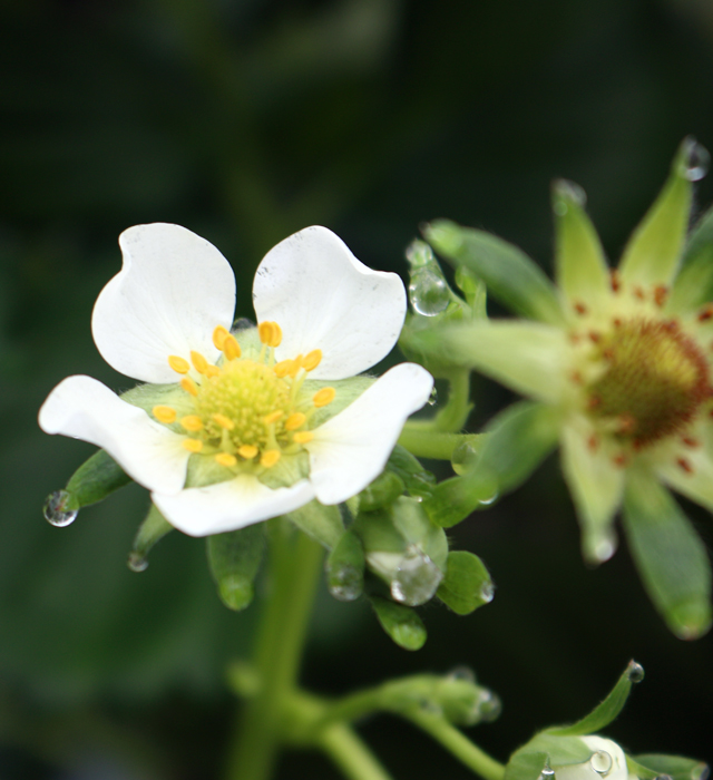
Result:
<svg viewBox="0 0 713 780"><path fill-rule="evenodd" d="M588 438L584 423L565 426L560 457L582 526L583 555L599 564L616 549L612 526L624 493L624 470L614 465L602 445L593 450Z"/></svg>

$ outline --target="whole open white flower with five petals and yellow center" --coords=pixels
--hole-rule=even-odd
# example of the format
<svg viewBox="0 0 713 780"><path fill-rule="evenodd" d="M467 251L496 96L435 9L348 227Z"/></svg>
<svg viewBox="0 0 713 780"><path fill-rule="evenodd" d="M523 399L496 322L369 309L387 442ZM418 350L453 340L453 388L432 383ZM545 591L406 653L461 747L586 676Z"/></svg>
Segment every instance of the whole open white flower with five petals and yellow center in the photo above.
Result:
<svg viewBox="0 0 713 780"><path fill-rule="evenodd" d="M379 475L432 387L412 363L356 377L399 337L395 274L307 227L257 269L258 328L231 333L235 280L208 242L154 224L127 230L119 245L124 266L97 300L94 339L113 368L147 384L119 398L69 377L40 410L45 431L104 448L192 536L313 498L339 504Z"/></svg>

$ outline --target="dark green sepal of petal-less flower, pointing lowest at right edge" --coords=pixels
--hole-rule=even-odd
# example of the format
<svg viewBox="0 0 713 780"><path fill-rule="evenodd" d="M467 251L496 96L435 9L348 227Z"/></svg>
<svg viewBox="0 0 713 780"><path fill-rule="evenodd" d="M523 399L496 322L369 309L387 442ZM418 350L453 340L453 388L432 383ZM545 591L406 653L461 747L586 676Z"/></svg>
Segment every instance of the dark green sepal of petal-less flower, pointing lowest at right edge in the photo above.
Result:
<svg viewBox="0 0 713 780"><path fill-rule="evenodd" d="M671 493L648 471L627 476L624 528L644 587L673 633L694 640L711 627L705 544Z"/></svg>

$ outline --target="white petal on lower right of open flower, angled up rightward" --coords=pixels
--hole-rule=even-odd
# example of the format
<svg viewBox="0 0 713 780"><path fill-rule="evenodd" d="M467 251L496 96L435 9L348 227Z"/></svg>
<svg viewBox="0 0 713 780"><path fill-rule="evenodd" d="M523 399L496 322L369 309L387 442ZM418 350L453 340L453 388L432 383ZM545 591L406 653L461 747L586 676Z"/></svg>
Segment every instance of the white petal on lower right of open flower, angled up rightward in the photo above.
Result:
<svg viewBox="0 0 713 780"><path fill-rule="evenodd" d="M401 363L315 429L305 448L310 480L322 504L345 501L381 474L403 423L426 403L432 387L426 369Z"/></svg>

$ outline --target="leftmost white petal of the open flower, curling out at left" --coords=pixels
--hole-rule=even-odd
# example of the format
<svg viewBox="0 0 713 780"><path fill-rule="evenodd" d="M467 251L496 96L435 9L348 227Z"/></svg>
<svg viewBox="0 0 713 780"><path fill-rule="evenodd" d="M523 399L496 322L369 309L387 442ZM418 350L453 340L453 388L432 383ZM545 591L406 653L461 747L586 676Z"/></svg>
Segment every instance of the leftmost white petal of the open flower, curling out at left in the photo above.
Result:
<svg viewBox="0 0 713 780"><path fill-rule="evenodd" d="M189 452L183 437L138 407L123 401L91 377L68 377L42 404L40 428L105 449L139 485L177 493L186 479Z"/></svg>

